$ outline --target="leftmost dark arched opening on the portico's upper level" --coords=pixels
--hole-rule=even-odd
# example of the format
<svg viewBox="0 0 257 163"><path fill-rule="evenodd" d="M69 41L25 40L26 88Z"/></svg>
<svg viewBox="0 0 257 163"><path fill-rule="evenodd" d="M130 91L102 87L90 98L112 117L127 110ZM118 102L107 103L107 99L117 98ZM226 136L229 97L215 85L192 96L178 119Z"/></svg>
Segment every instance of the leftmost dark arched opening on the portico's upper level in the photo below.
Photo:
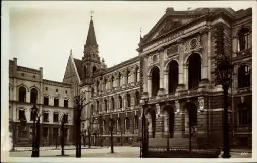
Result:
<svg viewBox="0 0 257 163"><path fill-rule="evenodd" d="M160 90L160 70L158 67L152 69L152 96L157 96Z"/></svg>

